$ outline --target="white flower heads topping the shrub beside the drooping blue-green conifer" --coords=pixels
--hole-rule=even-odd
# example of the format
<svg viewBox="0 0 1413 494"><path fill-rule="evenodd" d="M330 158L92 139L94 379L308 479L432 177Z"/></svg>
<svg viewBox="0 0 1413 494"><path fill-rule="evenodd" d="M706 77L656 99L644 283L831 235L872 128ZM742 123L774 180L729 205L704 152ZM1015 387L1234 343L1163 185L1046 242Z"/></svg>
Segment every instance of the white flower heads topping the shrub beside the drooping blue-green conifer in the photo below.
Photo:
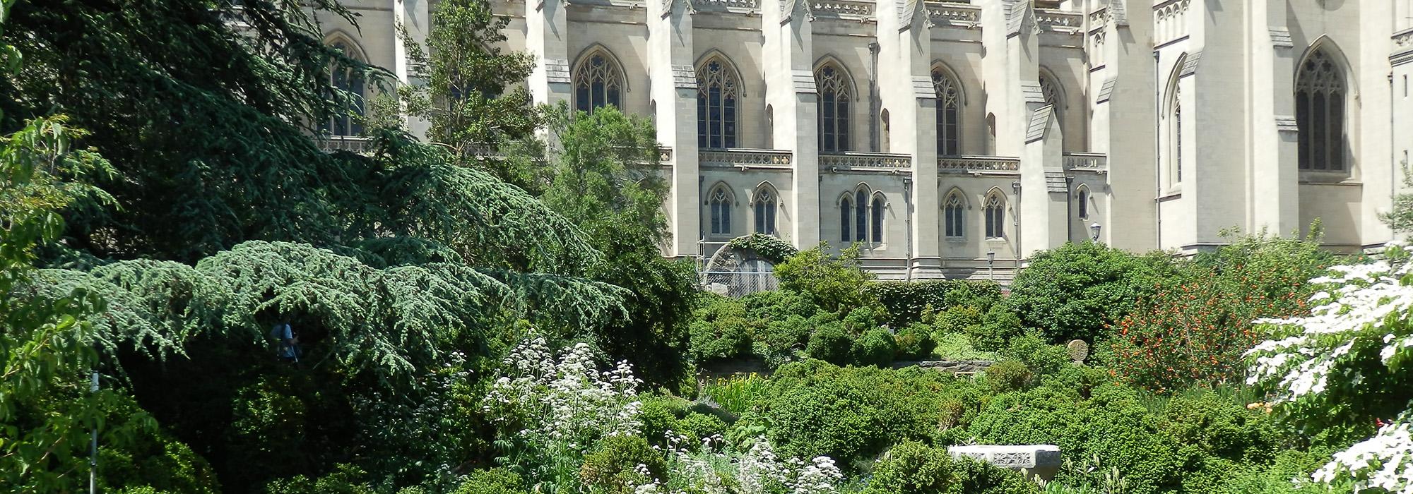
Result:
<svg viewBox="0 0 1413 494"><path fill-rule="evenodd" d="M520 439L531 447L582 454L598 438L637 435L642 428L642 381L626 361L598 371L586 343L555 360L545 340L533 337L516 346L504 364L510 375L492 384L482 409L503 426L519 425Z"/></svg>

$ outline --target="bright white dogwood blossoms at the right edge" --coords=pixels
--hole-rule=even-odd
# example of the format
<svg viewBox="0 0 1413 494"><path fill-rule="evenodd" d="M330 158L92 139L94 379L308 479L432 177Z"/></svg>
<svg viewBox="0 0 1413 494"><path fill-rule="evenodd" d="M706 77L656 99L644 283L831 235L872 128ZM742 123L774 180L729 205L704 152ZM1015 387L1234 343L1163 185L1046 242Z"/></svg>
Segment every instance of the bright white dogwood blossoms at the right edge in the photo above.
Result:
<svg viewBox="0 0 1413 494"><path fill-rule="evenodd" d="M1328 409L1338 399L1328 395L1331 378L1351 380L1334 387L1358 387L1362 377L1342 370L1369 359L1372 349L1379 349L1389 373L1406 371L1405 364L1413 361L1413 264L1341 265L1331 272L1311 279L1324 289L1310 298L1316 305L1310 316L1256 320L1273 337L1246 351L1252 361L1248 384L1276 384L1275 405ZM1405 411L1373 438L1337 453L1314 480L1348 480L1355 493L1413 494L1410 422L1413 411Z"/></svg>

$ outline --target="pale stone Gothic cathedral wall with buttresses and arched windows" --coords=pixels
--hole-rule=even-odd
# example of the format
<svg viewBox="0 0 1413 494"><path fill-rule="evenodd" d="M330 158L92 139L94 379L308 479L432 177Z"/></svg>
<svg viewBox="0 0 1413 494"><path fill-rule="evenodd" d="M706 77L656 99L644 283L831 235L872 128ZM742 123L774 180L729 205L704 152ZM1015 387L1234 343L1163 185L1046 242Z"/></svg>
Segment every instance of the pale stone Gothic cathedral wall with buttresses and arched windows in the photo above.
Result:
<svg viewBox="0 0 1413 494"><path fill-rule="evenodd" d="M1413 148L1413 0L490 1L537 103L657 124L677 257L759 231L986 277L1317 219L1358 251ZM417 83L396 32L435 1L345 3L328 42Z"/></svg>

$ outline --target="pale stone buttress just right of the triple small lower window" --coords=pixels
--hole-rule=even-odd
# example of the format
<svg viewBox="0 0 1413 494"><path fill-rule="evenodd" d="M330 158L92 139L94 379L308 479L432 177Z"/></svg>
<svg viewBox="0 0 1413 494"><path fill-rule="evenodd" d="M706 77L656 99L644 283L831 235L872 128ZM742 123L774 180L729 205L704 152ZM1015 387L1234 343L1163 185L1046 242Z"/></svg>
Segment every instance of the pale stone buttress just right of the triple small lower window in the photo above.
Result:
<svg viewBox="0 0 1413 494"><path fill-rule="evenodd" d="M879 0L879 80L892 120L889 152L913 158L913 277L941 275L938 246L937 92L931 79L931 23L923 0ZM907 80L909 83L899 83Z"/></svg>

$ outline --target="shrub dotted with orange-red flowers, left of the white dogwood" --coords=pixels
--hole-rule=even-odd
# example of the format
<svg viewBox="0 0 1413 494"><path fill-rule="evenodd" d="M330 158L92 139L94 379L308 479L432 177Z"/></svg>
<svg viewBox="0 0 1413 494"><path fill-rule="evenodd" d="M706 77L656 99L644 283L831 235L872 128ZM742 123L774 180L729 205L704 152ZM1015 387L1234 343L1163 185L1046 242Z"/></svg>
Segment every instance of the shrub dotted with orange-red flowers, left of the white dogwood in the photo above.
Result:
<svg viewBox="0 0 1413 494"><path fill-rule="evenodd" d="M1307 281L1334 260L1317 239L1258 236L1195 258L1113 323L1111 373L1157 392L1239 378L1266 336L1252 320L1308 312Z"/></svg>

